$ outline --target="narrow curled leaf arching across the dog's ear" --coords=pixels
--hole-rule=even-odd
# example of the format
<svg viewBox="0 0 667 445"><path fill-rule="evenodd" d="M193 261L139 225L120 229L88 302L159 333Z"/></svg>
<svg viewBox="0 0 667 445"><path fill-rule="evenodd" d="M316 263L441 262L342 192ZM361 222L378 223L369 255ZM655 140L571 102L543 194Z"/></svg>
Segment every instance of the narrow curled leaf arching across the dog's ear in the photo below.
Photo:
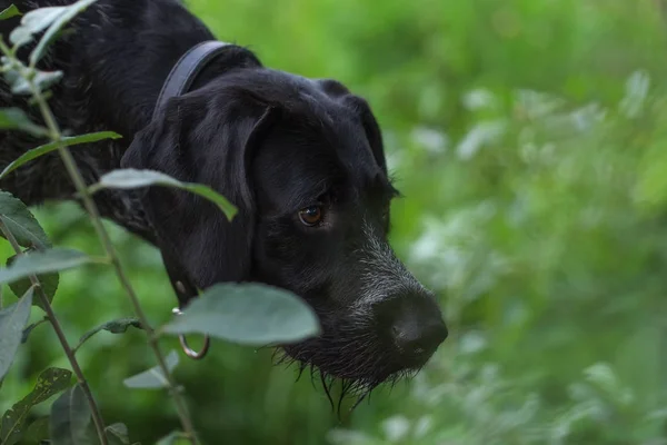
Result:
<svg viewBox="0 0 667 445"><path fill-rule="evenodd" d="M222 212L225 212L227 218L230 220L238 211L237 208L227 200L227 198L225 198L222 195L219 195L208 186L203 186L201 184L182 182L169 175L165 175L155 170L137 170L133 168L113 170L103 175L100 178L100 181L93 185L90 190L91 192L94 192L101 188L131 189L149 186L178 188L195 195L199 195L220 207Z"/></svg>

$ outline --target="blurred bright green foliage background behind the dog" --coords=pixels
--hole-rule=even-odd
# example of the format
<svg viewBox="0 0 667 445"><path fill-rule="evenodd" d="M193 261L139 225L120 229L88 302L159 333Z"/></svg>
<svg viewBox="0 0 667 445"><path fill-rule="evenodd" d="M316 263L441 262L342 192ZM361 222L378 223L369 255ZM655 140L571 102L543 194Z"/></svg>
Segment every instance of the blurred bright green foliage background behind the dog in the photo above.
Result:
<svg viewBox="0 0 667 445"><path fill-rule="evenodd" d="M406 195L392 243L438 291L451 332L418 377L340 421L270 350L217 342L177 368L207 444L667 444L660 1L188 3L267 66L370 101ZM100 251L73 206L38 218L58 245ZM158 253L109 227L151 320L168 320ZM54 305L72 342L132 314L103 267L66 273ZM165 394L121 383L153 365L141 333L100 334L79 357L107 421L132 439L178 426ZM0 412L46 366L68 367L42 326Z"/></svg>

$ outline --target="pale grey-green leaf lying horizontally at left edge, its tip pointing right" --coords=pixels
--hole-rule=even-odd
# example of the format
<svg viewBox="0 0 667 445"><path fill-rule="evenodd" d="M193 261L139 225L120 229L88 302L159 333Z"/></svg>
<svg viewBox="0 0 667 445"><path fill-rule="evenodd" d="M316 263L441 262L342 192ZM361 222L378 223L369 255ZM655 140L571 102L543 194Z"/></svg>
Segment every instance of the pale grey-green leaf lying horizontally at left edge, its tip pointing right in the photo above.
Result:
<svg viewBox="0 0 667 445"><path fill-rule="evenodd" d="M0 284L11 283L30 275L71 269L91 263L86 254L64 248L53 248L21 255L6 268L0 268Z"/></svg>

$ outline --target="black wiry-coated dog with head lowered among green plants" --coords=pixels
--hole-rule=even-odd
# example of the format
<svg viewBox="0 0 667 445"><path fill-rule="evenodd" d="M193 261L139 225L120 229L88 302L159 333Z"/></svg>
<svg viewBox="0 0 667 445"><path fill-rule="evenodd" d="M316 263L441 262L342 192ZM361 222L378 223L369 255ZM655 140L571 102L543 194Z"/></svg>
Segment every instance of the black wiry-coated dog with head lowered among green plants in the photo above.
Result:
<svg viewBox="0 0 667 445"><path fill-rule="evenodd" d="M26 12L70 0L13 1ZM4 9L12 1L0 1ZM0 23L7 41L19 19ZM96 195L102 215L178 258L193 285L261 281L300 295L323 334L286 346L325 376L370 389L419 369L447 336L434 295L387 243L397 190L368 105L334 80L261 66L229 46L151 118L178 59L213 36L177 0L100 0L71 23L40 68L62 70L50 106L74 134L123 136L73 149L89 184L115 168L155 169L210 185L239 207L165 188ZM23 55L24 56L24 55ZM24 98L0 85L0 106ZM0 134L0 168L39 140ZM0 187L29 205L73 199L60 159L34 160Z"/></svg>

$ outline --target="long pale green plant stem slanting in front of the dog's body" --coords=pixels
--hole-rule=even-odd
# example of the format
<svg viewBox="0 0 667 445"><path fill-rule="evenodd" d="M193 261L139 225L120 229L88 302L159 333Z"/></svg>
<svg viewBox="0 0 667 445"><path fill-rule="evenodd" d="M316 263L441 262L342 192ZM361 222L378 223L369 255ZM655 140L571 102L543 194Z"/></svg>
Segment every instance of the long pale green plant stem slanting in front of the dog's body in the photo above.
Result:
<svg viewBox="0 0 667 445"><path fill-rule="evenodd" d="M56 119L53 117L53 113L51 112L51 109L49 108L42 92L40 91L38 86L36 86L32 82L31 79L26 79L26 80L28 82L30 82L30 86L32 89L32 96L34 97L37 103L39 105L39 108L40 108L40 111L44 119L44 122L47 123L47 128L49 130L51 140L53 142L59 142L61 140L62 136L61 136L60 129L58 127L58 123L56 122ZM100 243L101 243L104 251L107 253L107 256L111 260L111 265L113 266L113 269L116 270L116 275L118 276L118 279L121 283L123 289L130 297L130 301L135 308L135 313L137 314L139 320L141 322L141 325L148 333L149 346L153 350L156 359L158 360L158 366L160 367L165 377L167 378L167 383L169 385L169 392L171 393L171 396L176 404L176 408L177 408L178 415L180 417L180 422L181 422L183 432L188 436L188 439L195 445L195 444L197 444L197 436L195 435L195 428L192 426L192 421L190 419L190 416L188 414L188 408L187 408L186 402L181 397L179 389L178 389L176 383L173 382L173 377L171 376L171 373L169 372L169 368L167 367L167 363L165 362L165 356L163 356L162 352L160 350L160 347L158 344L158 336L155 334L155 330L150 326L148 317L146 316L143 308L141 307L141 305L139 303L137 293L135 291L132 285L130 284L130 280L120 263L118 253L116 251L116 248L113 247L113 244L111 243L111 238L109 237L107 229L102 225L102 219L100 217L98 208L94 204L94 200L90 196L90 192L88 190L88 187L86 186L86 181L83 180L81 172L77 168L74 158L72 157L70 150L64 146L60 146L58 148L58 151L60 154L62 162L64 164L64 167L66 167L70 178L72 179L72 182L74 184L74 188L77 189L77 192L79 194L81 200L83 201L83 207L86 208L86 210L88 211L88 214L90 216L90 220L94 227L94 230L97 231Z"/></svg>

